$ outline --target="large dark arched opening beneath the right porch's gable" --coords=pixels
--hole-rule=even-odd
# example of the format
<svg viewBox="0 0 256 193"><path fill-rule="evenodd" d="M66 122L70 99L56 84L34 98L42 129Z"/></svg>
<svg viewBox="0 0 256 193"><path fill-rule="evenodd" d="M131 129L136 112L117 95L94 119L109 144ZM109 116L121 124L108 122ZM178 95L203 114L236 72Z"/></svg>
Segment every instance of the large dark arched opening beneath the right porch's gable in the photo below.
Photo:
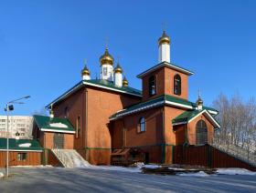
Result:
<svg viewBox="0 0 256 193"><path fill-rule="evenodd" d="M208 143L208 127L204 120L199 120L196 127L196 144L204 145Z"/></svg>

